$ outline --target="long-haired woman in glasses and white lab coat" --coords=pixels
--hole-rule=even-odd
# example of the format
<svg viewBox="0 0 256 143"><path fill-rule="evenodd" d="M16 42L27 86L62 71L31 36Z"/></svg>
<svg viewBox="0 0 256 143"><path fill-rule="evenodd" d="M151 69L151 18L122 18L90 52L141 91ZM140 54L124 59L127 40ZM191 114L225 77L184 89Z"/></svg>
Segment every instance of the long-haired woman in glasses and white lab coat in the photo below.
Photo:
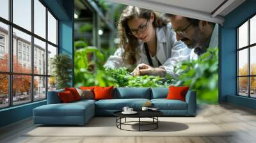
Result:
<svg viewBox="0 0 256 143"><path fill-rule="evenodd" d="M175 61L190 54L186 45L176 40L168 21L152 10L127 6L118 20L118 32L120 48L104 64L108 68L130 68L144 63L161 66L168 73Z"/></svg>

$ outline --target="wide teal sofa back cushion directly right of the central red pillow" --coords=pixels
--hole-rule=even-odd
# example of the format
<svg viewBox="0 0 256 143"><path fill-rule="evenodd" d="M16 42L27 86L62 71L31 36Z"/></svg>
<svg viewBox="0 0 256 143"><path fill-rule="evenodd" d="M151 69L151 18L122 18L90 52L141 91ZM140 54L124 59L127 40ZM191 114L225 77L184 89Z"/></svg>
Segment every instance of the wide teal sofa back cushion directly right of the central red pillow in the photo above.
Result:
<svg viewBox="0 0 256 143"><path fill-rule="evenodd" d="M114 98L145 98L150 99L149 87L117 87Z"/></svg>

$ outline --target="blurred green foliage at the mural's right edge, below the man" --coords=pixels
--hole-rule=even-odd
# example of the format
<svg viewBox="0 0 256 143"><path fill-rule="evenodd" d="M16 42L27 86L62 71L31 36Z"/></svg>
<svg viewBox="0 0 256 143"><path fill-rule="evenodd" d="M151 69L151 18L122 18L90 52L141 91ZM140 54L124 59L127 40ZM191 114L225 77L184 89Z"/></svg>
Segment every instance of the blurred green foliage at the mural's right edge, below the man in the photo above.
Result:
<svg viewBox="0 0 256 143"><path fill-rule="evenodd" d="M175 68L180 76L176 86L196 91L198 102L218 102L218 47L208 49L196 61L184 61Z"/></svg>

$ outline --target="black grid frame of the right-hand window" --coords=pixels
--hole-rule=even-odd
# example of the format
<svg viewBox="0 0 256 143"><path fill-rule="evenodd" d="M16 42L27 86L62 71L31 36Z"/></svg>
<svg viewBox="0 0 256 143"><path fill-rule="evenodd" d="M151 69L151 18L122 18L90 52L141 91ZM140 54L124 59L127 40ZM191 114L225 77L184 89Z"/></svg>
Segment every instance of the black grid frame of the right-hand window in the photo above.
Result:
<svg viewBox="0 0 256 143"><path fill-rule="evenodd" d="M247 98L253 98L255 99L256 97L252 97L251 96L251 86L250 86L250 79L252 77L256 77L256 75L251 75L251 64L250 64L250 50L251 48L255 47L256 46L256 43L252 43L250 44L250 20L253 18L253 17L256 17L256 13L254 13L253 15L251 15L248 19L244 20L244 22L242 22L239 26L236 27L236 95L237 96L243 96L241 94L239 94L239 78L241 77L247 77L247 96L243 96L243 97L247 97ZM244 47L241 47L239 49L239 27L243 26L243 24L245 24L246 22L248 22L248 33L247 33L247 36L248 36L248 41L247 41L247 45L244 46ZM247 49L247 56L248 56L248 59L247 59L247 63L248 63L248 67L247 67L247 75L239 75L239 51L241 50L244 50L244 49Z"/></svg>

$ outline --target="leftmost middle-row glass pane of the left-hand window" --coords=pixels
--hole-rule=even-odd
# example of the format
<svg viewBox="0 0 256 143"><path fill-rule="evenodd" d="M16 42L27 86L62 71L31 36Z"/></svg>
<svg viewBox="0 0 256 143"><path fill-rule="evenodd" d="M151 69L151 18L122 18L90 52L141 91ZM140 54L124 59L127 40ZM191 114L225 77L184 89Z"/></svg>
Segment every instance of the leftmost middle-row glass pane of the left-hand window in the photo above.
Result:
<svg viewBox="0 0 256 143"><path fill-rule="evenodd" d="M0 71L9 71L9 27L0 22Z"/></svg>

